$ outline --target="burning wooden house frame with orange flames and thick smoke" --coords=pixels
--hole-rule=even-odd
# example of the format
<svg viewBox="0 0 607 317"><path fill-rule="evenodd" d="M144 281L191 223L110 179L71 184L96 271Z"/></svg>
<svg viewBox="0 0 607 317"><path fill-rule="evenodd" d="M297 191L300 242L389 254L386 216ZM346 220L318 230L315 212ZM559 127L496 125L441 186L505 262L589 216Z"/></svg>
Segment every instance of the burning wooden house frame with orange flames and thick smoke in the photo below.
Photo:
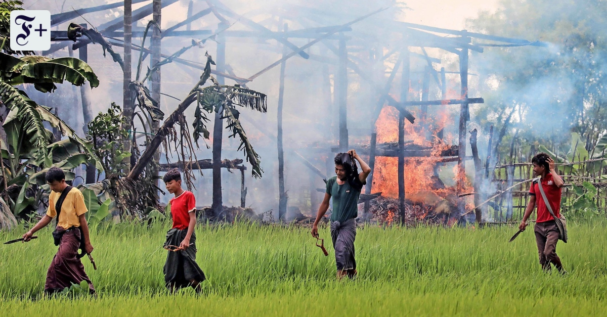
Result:
<svg viewBox="0 0 607 317"><path fill-rule="evenodd" d="M132 37L140 38L144 33L143 28L136 26L137 20L149 15L159 20L160 9L175 7L175 2L179 1L163 1L160 8L146 3L132 10L135 22L135 27L129 30ZM265 140L257 148L264 162L270 162L265 163L262 180L245 177L243 161L231 157L239 155L239 146L215 133L221 129L214 131L212 159L198 160L197 164L202 166L200 169L212 171L212 177L196 181L202 193L197 199L205 201L205 205L212 204L205 213L220 214L226 200L241 208L251 206L253 201L258 212L273 209L277 211L276 219L281 220L287 217L290 204L314 213L319 203L316 189L322 184L320 180L333 174L334 154L353 148L368 159L372 170L361 197L362 220L444 225L482 222L481 210L469 213L480 199L479 194L474 194L479 184L467 176L475 173L466 170L466 162L473 162L477 169L478 159L475 138L470 138L470 106L484 103L481 96L469 95L470 52L482 53L485 46L543 46L543 43L405 23L398 21L390 10L367 10L364 6L352 6L338 15L315 9L314 3L290 4L245 16L236 13L228 2L182 2L187 2L186 15L163 27L161 36L155 35L151 50L132 45L128 32L121 31L128 24L123 17L105 22L97 29L110 44L141 50L145 56L160 54L161 47L178 47L180 41L187 42L192 37L212 35L214 41L209 40L205 49L214 55L217 67L212 72L220 83L231 81L243 87L254 86L268 92L270 97L276 95L268 107L268 112L276 117L270 120L252 114L242 120L249 138ZM393 4L384 2L387 6ZM104 12L118 5L92 7L86 13ZM62 25L76 15L76 11L53 15L52 24ZM53 31L53 41L49 54L70 45L86 58L87 47L92 49L88 39L81 37L73 43L64 31ZM258 50L259 61L251 60L251 47ZM188 69L197 74L180 77L196 80L202 69L197 58L189 55L172 59L180 72ZM287 67L287 61L297 63L293 67L296 70ZM171 65L164 65L163 69ZM245 73L253 75L246 77ZM160 80L160 71L158 74ZM266 80L257 80L261 76ZM162 79L166 78L177 81L170 72L163 73ZM304 78L305 85L288 87L300 78ZM160 96L161 85L164 90L183 90L170 82L158 81L150 87L152 95ZM299 112L285 117L286 103L303 98L300 89L309 90L306 102L322 106L310 110L299 107ZM364 98L354 102L353 90L364 90ZM87 107L90 108L90 103L86 104L83 98L83 109ZM308 115L322 118L303 119ZM215 118L214 124L222 124L221 120ZM314 132L319 126L325 130ZM293 127L304 128L292 131L296 129ZM300 137L301 131L307 134L304 138ZM226 160L226 155L231 159ZM303 178L309 185L302 186L302 177L293 177L296 174L287 171L285 165L290 160L301 167L296 172L303 170L309 174ZM161 170L183 165L159 163ZM226 174L233 169L240 171L234 180L230 173ZM305 187L306 194L289 189L296 186Z"/></svg>

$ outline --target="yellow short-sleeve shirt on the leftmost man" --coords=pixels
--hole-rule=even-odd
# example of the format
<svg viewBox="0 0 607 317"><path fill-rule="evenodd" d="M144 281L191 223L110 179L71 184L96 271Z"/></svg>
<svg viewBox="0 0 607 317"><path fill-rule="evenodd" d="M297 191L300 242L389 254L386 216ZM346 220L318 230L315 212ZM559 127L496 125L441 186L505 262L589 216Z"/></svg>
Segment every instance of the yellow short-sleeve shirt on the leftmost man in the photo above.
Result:
<svg viewBox="0 0 607 317"><path fill-rule="evenodd" d="M55 193L54 191L50 193L49 209L46 211L46 214L51 218L57 216L55 204L57 203L59 196L61 196L61 193ZM67 193L66 199L63 200L63 205L61 205L61 214L59 214L57 225L66 230L70 227L80 227L78 216L87 211L89 210L87 210L86 205L84 205L84 196L78 188L72 187L72 190Z"/></svg>

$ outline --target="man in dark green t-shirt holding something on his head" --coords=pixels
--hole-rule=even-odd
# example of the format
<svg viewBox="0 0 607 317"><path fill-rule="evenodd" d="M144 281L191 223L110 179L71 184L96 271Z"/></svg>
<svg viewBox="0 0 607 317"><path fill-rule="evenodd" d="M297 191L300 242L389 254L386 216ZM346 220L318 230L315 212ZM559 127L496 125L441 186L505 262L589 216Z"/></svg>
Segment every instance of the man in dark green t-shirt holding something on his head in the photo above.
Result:
<svg viewBox="0 0 607 317"><path fill-rule="evenodd" d="M358 172L357 160L362 172ZM346 274L349 278L356 277L356 261L354 260L354 238L356 237L356 217L358 216L358 197L362 186L367 183L371 168L356 151L339 153L335 156L335 174L327 180L325 199L320 203L316 221L312 227L312 236L318 236L318 222L329 208L329 199L333 198L331 213L331 240L335 248L337 264L337 279Z"/></svg>

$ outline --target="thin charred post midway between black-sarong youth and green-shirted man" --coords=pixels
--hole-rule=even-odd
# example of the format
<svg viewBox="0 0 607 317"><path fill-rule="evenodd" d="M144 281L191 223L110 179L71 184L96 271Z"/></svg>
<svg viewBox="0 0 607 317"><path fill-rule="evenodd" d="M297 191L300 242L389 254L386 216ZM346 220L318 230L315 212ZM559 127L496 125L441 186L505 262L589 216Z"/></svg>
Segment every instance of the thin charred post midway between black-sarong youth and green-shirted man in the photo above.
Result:
<svg viewBox="0 0 607 317"><path fill-rule="evenodd" d="M287 32L288 25L285 23L284 32ZM282 56L287 55L287 46L282 46ZM278 90L278 131L276 134L276 143L278 146L278 191L279 191L279 203L278 203L278 220L282 221L287 215L287 193L285 192L285 152L282 148L282 106L285 97L285 67L287 66L287 60L282 60L280 63L280 83Z"/></svg>

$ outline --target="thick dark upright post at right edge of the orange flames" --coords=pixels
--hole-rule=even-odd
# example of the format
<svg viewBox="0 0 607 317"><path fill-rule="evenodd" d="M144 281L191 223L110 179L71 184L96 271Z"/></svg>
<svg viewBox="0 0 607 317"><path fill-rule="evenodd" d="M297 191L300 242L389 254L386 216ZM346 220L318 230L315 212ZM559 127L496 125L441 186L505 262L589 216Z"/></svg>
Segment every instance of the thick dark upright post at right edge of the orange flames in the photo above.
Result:
<svg viewBox="0 0 607 317"><path fill-rule="evenodd" d="M461 49L459 55L459 77L461 80L461 96L463 100L468 98L468 49ZM466 126L469 120L468 103L461 104L459 109L459 146L458 146L458 175L457 189L458 194L463 193L464 181L466 180ZM464 199L458 200L458 210L463 213L466 210Z"/></svg>

